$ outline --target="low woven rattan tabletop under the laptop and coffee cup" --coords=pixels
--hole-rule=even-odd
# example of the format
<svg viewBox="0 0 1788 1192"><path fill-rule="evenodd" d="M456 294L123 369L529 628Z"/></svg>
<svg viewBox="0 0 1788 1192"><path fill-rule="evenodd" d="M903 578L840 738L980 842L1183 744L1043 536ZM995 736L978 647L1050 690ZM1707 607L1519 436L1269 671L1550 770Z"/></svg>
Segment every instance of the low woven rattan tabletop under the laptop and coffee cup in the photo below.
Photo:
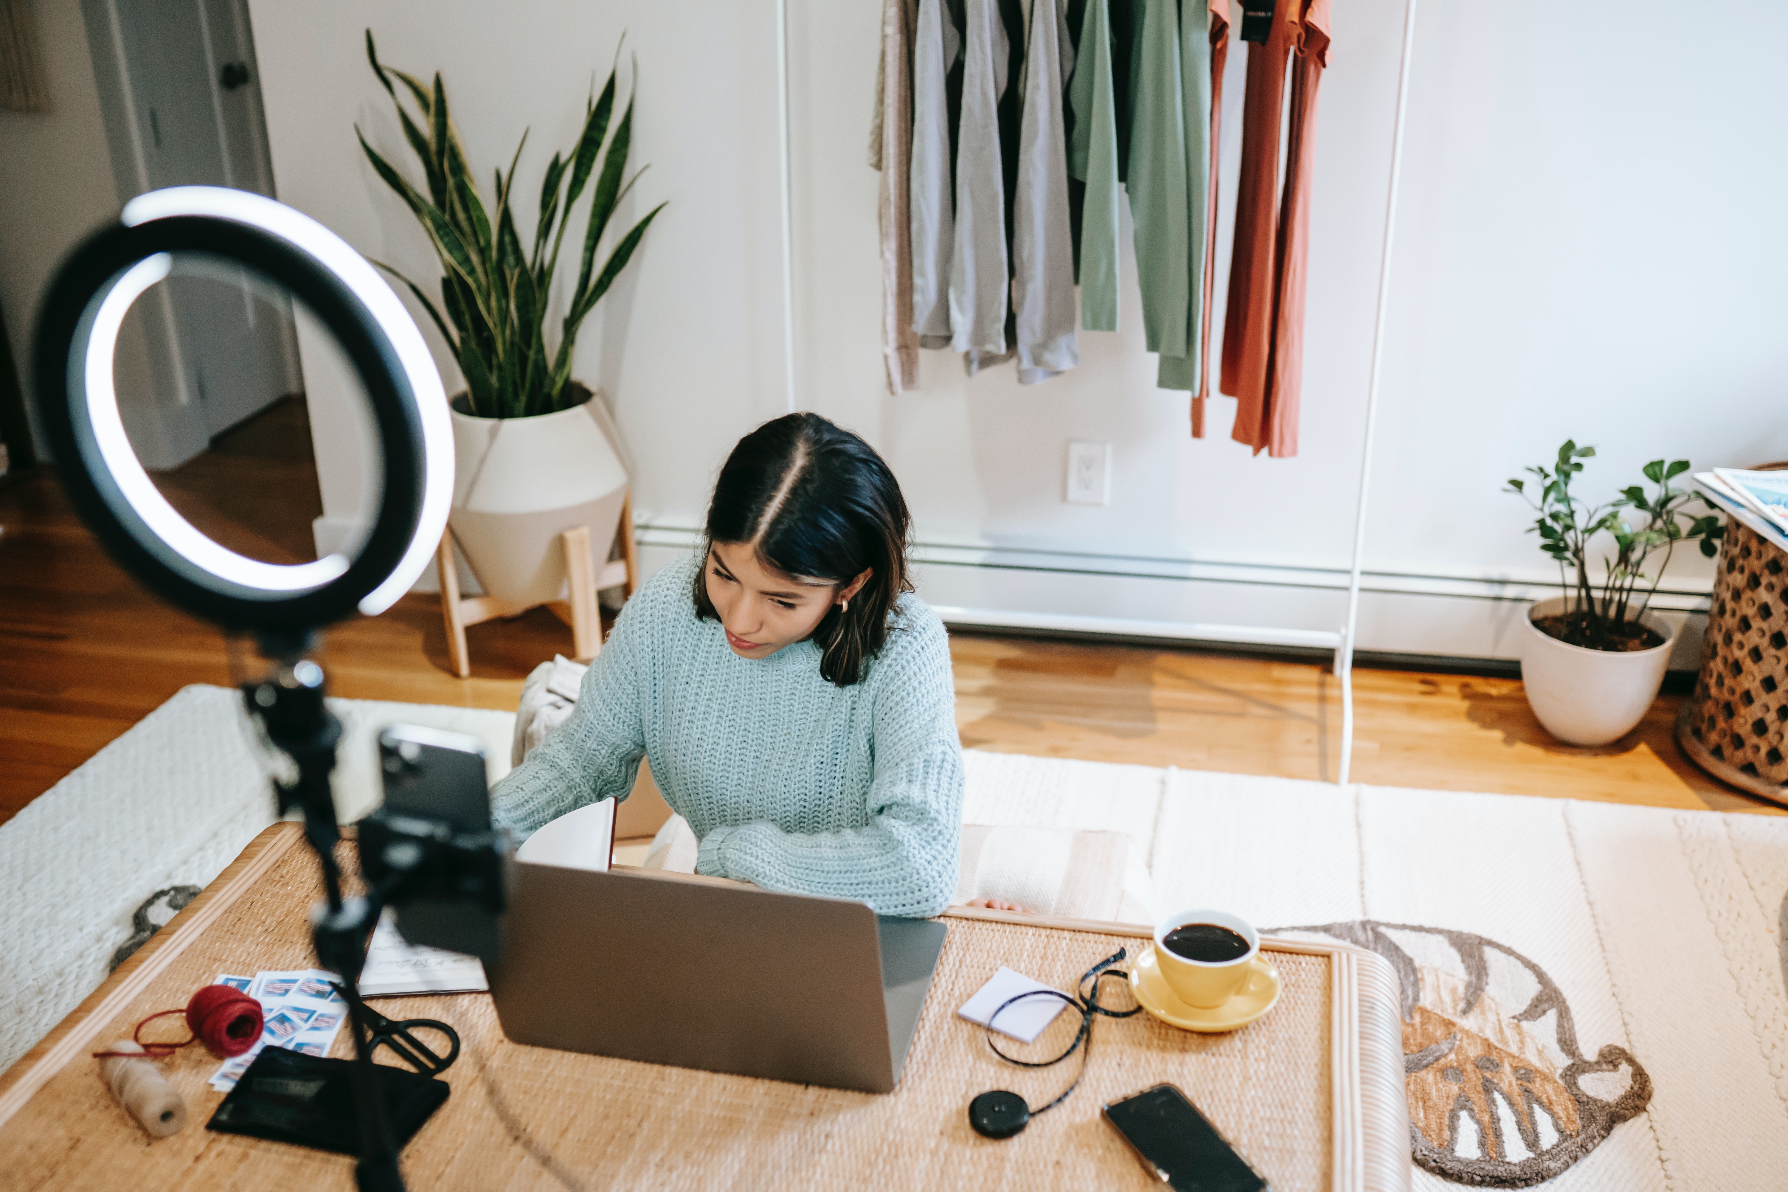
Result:
<svg viewBox="0 0 1788 1192"><path fill-rule="evenodd" d="M315 860L291 847L293 840L286 826L268 829L257 854L245 854L163 933L170 938L152 942L9 1074L0 1094L0 1183L352 1187L349 1158L206 1131L222 1094L206 1085L216 1060L198 1047L164 1063L191 1124L159 1142L113 1103L88 1058L98 1044L129 1037L138 1019L184 1004L220 972L311 963L302 911L320 897L320 886ZM1355 963L1357 953L1275 951L1271 960L1284 978L1278 1006L1230 1035L1191 1035L1148 1015L1101 1019L1073 1097L1017 1138L989 1142L969 1129L971 1097L1012 1088L1042 1104L1075 1078L1078 1056L1041 1070L1007 1065L957 1008L1001 963L1071 988L1094 961L1119 947L1135 956L1148 940L991 919L946 922L949 938L924 1017L899 1087L887 1095L522 1047L502 1037L486 995L381 1001L393 1019L443 1019L465 1042L445 1078L452 1095L404 1151L406 1178L415 1188L1141 1190L1159 1185L1100 1119L1100 1106L1171 1081L1280 1192L1387 1187L1361 1179L1359 1156L1348 1146L1337 1149L1334 1133L1337 1121L1357 1133L1357 1110L1352 1117L1336 1110L1336 1088L1346 1087L1336 1081L1336 1056L1354 1063L1361 1040L1368 1051L1371 1040L1354 1026L1345 1028L1352 1038L1332 1037L1336 1024L1352 1022L1337 1013L1336 965ZM576 940L567 938L567 947ZM789 976L781 994L799 1003L799 974ZM1128 990L1112 981L1105 1001L1132 1004ZM1076 1015L1064 1015L1032 1047L1012 1047L1044 1058L1060 1051L1076 1026ZM336 1054L347 1045L343 1033ZM1395 1035L1389 1049L1396 1058ZM1391 1112L1400 1110L1398 1099ZM1404 1178L1407 1151L1396 1154L1396 1147L1407 1147L1405 1122L1379 1129L1380 1138L1391 1138ZM1345 1178L1337 1178L1337 1163L1350 1169L1339 1172ZM1393 1174L1398 1163L1391 1163Z"/></svg>

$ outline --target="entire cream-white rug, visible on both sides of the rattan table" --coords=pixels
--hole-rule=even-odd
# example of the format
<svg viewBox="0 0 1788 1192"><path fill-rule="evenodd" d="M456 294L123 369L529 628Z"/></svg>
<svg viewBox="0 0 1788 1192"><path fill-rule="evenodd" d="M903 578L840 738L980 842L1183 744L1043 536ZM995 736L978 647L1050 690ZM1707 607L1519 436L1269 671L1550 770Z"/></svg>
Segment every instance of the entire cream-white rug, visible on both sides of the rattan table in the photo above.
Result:
<svg viewBox="0 0 1788 1192"><path fill-rule="evenodd" d="M393 720L483 736L508 768L508 713L334 706L343 818L375 801ZM1788 1187L1788 820L966 760L966 822L1125 833L1162 910L1391 960L1416 1187ZM206 885L270 818L236 695L186 688L0 826L0 1067L104 979L145 897Z"/></svg>

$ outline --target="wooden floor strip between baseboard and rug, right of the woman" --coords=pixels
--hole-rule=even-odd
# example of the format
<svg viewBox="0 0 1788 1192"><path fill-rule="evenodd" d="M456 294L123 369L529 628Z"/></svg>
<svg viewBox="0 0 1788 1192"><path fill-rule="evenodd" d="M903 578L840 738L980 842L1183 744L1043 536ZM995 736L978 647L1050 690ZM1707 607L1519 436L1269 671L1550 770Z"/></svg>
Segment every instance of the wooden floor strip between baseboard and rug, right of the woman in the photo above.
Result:
<svg viewBox="0 0 1788 1192"><path fill-rule="evenodd" d="M973 749L1334 781L1341 688L1328 667L1207 651L955 634L957 724ZM1552 740L1520 681L1354 670L1357 783L1597 799L1656 808L1783 808L1720 783L1672 733L1661 695L1613 745Z"/></svg>

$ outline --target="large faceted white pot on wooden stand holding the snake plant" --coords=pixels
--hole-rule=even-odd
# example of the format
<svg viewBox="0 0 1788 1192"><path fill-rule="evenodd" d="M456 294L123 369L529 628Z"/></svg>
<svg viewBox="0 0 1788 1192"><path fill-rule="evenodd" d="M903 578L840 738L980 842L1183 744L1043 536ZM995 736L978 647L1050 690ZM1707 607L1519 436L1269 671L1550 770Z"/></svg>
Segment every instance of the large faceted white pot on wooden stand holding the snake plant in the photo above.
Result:
<svg viewBox="0 0 1788 1192"><path fill-rule="evenodd" d="M601 397L533 418L477 418L454 406L447 524L472 574L488 595L515 604L565 599L558 536L588 525L601 567L628 495L628 468Z"/></svg>

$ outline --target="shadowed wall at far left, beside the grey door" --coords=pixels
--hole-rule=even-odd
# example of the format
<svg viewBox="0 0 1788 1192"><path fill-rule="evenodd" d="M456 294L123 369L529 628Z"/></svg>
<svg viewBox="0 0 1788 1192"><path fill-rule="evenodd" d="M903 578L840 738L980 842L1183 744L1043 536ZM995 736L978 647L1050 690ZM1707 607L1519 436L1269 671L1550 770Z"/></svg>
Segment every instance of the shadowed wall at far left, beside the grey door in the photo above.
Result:
<svg viewBox="0 0 1788 1192"><path fill-rule="evenodd" d="M0 111L0 306L30 395L30 327L50 273L77 239L118 214L105 123L79 0L36 0L50 111ZM48 445L38 436L39 456Z"/></svg>

